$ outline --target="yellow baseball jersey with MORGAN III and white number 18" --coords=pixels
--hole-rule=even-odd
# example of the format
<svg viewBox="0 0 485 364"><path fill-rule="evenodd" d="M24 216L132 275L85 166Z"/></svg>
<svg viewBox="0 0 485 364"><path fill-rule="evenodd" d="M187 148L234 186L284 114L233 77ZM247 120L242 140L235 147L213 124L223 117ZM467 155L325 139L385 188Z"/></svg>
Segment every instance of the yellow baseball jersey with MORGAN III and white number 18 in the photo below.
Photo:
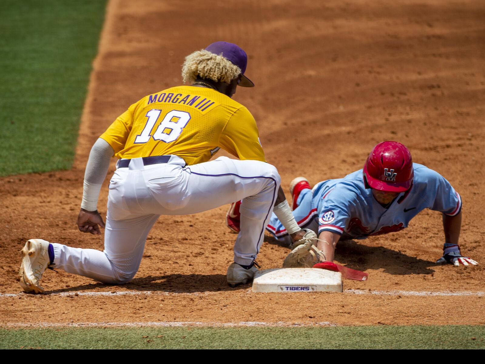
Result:
<svg viewBox="0 0 485 364"><path fill-rule="evenodd" d="M194 165L222 148L242 160L266 162L251 113L206 87L178 86L148 95L100 137L118 158L175 154Z"/></svg>

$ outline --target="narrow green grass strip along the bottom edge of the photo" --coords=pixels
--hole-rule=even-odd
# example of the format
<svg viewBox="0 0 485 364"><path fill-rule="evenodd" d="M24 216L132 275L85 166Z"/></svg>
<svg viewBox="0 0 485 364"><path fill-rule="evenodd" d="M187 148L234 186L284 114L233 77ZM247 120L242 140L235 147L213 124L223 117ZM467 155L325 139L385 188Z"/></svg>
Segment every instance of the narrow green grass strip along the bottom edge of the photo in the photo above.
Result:
<svg viewBox="0 0 485 364"><path fill-rule="evenodd" d="M162 335L162 337L158 337ZM485 326L0 329L0 349L478 349Z"/></svg>

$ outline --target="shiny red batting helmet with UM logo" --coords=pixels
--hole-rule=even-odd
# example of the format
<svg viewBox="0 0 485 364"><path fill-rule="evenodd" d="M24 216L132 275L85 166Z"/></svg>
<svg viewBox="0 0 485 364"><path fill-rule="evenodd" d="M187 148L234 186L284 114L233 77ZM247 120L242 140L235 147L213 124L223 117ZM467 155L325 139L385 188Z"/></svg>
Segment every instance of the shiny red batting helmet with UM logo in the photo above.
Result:
<svg viewBox="0 0 485 364"><path fill-rule="evenodd" d="M369 186L385 192L404 192L413 182L411 153L398 142L382 142L372 149L364 165Z"/></svg>

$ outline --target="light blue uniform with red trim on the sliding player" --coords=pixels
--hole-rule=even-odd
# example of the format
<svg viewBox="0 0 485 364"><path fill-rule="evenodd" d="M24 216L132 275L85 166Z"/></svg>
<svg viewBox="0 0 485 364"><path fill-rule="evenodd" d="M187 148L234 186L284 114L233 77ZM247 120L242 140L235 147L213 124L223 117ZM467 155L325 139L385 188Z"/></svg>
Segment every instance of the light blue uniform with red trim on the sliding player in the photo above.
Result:
<svg viewBox="0 0 485 364"><path fill-rule="evenodd" d="M424 165L413 163L413 169L411 189L400 193L388 208L365 188L360 169L341 179L319 182L311 191L303 190L293 215L301 227L335 232L340 239L365 239L406 228L426 208L450 216L459 214L461 198L450 182ZM275 215L267 229L277 238L288 235Z"/></svg>

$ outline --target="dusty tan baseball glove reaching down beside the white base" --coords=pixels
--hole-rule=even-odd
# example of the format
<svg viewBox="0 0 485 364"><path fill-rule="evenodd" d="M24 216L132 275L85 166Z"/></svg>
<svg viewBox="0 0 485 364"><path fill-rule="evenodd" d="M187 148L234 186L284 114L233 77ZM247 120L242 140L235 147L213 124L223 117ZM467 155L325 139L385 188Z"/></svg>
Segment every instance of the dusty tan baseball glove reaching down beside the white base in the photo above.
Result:
<svg viewBox="0 0 485 364"><path fill-rule="evenodd" d="M317 234L308 229L303 230L307 233L291 245L292 250L285 258L283 268L311 268L320 261L319 257L325 260L323 253L315 246L318 240Z"/></svg>

